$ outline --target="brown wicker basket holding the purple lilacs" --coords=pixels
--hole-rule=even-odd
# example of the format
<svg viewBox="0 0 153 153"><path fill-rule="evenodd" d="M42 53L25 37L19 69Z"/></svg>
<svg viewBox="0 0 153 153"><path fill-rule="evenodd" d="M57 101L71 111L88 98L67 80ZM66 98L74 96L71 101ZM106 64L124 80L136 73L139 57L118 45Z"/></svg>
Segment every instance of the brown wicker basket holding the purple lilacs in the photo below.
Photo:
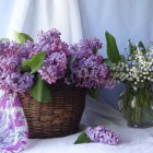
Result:
<svg viewBox="0 0 153 153"><path fill-rule="evenodd" d="M78 132L85 106L85 90L68 85L50 87L52 102L38 103L21 96L28 138L55 138Z"/></svg>

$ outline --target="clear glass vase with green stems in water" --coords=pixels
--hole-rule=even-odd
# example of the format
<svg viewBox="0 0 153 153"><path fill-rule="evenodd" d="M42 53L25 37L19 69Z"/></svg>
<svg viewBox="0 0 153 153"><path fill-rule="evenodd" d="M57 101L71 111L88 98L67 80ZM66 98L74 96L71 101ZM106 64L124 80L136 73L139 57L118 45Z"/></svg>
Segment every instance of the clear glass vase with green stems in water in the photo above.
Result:
<svg viewBox="0 0 153 153"><path fill-rule="evenodd" d="M138 90L128 86L127 90L120 94L118 105L129 127L153 127L152 85L145 85Z"/></svg>

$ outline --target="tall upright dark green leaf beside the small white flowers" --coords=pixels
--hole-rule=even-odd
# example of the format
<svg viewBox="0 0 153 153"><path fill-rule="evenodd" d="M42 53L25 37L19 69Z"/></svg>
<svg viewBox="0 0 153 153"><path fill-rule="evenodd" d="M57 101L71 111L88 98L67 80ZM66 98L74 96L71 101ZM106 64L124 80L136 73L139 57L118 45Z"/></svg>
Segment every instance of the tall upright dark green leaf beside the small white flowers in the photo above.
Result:
<svg viewBox="0 0 153 153"><path fill-rule="evenodd" d="M120 56L116 44L116 39L108 32L105 33L105 37L107 42L107 56L113 63L117 63L118 61L120 61Z"/></svg>

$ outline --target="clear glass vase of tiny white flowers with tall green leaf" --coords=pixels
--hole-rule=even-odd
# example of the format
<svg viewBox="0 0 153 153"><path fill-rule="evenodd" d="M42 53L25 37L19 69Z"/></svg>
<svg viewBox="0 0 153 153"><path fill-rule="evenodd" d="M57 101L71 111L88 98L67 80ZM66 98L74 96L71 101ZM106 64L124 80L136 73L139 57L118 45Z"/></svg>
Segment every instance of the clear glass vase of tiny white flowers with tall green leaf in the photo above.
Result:
<svg viewBox="0 0 153 153"><path fill-rule="evenodd" d="M119 109L131 127L153 126L153 48L142 42L132 45L126 56L120 55L113 35L106 32L106 63L116 82L126 84L127 90L119 98Z"/></svg>

